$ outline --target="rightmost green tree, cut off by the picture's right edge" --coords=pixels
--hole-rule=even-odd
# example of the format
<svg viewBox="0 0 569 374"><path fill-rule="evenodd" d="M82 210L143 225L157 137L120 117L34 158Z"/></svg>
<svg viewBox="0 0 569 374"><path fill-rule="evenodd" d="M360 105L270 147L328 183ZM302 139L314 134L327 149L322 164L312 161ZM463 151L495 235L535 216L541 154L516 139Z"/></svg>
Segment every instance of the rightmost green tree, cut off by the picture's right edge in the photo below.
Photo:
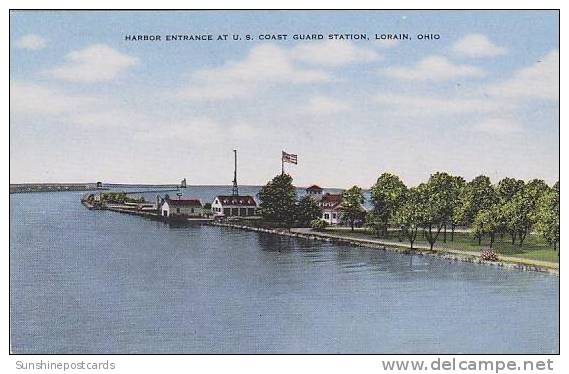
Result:
<svg viewBox="0 0 569 374"><path fill-rule="evenodd" d="M546 191L537 202L536 231L553 249L559 243L559 182Z"/></svg>

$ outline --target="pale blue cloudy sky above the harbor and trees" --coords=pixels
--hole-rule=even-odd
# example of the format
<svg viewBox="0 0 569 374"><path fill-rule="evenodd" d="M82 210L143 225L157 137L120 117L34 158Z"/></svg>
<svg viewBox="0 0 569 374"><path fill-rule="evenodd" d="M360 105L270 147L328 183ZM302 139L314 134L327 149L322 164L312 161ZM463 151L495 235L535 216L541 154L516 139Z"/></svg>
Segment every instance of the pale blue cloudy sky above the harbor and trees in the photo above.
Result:
<svg viewBox="0 0 569 374"><path fill-rule="evenodd" d="M12 12L10 179L409 185L559 173L552 11ZM252 41L125 41L245 34ZM369 40L295 41L367 33ZM375 34L408 33L380 42ZM417 34L439 34L419 40ZM286 41L259 35L287 34Z"/></svg>

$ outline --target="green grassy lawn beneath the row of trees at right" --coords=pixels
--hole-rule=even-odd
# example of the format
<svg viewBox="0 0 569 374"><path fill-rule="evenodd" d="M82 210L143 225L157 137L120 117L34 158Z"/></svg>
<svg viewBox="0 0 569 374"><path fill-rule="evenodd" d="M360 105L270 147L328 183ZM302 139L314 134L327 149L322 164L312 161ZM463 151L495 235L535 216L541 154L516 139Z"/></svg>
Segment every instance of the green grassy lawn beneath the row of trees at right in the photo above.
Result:
<svg viewBox="0 0 569 374"><path fill-rule="evenodd" d="M371 230L367 228L357 228L354 232L351 232L349 228L345 227L328 227L326 232L341 234L343 236L360 238L360 239L379 239L384 241L398 242L398 232L390 231L387 238L377 238L375 237ZM409 243L407 240L403 239L404 243ZM423 237L420 231L417 234L417 240L415 245L418 246L428 246L429 243ZM454 241L450 241L450 232L447 232L447 242L443 242L443 233L439 235L439 239L435 243L435 248L443 249L456 249L460 251L467 252L480 252L482 248L488 248L489 239L482 240L482 245L478 245L478 240L473 239L471 233L455 233ZM530 260L548 261L548 262L559 262L558 252L553 250L553 247L549 247L547 243L539 235L528 235L522 247L518 244L512 245L511 239L508 235L504 235L501 239L499 236L494 242L493 249L499 255L517 257Z"/></svg>

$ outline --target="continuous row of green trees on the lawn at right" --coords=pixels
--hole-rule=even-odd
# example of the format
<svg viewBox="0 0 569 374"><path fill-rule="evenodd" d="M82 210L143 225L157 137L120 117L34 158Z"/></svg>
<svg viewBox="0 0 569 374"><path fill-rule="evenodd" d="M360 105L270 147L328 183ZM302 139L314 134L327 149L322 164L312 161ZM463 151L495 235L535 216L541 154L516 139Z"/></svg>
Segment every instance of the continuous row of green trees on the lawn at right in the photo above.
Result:
<svg viewBox="0 0 569 374"><path fill-rule="evenodd" d="M559 242L559 182L549 187L544 181L504 178L493 185L481 175L470 182L438 172L425 183L407 188L399 177L384 173L371 188L372 211L368 224L378 236L387 235L390 223L397 225L413 248L419 230L431 249L439 239L451 240L457 226L472 228L481 244L488 237L490 247L497 235L510 235L512 244L522 246L536 230L554 248Z"/></svg>

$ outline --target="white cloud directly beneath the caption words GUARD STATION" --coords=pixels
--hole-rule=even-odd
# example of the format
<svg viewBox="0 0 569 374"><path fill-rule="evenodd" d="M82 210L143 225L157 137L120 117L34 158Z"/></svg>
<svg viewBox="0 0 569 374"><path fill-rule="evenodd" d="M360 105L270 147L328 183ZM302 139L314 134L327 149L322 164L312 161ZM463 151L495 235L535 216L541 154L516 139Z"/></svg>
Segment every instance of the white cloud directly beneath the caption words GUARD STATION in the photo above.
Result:
<svg viewBox="0 0 569 374"><path fill-rule="evenodd" d="M354 43L344 40L302 43L294 47L290 53L291 57L297 61L329 67L373 62L381 58L372 49L358 47Z"/></svg>

